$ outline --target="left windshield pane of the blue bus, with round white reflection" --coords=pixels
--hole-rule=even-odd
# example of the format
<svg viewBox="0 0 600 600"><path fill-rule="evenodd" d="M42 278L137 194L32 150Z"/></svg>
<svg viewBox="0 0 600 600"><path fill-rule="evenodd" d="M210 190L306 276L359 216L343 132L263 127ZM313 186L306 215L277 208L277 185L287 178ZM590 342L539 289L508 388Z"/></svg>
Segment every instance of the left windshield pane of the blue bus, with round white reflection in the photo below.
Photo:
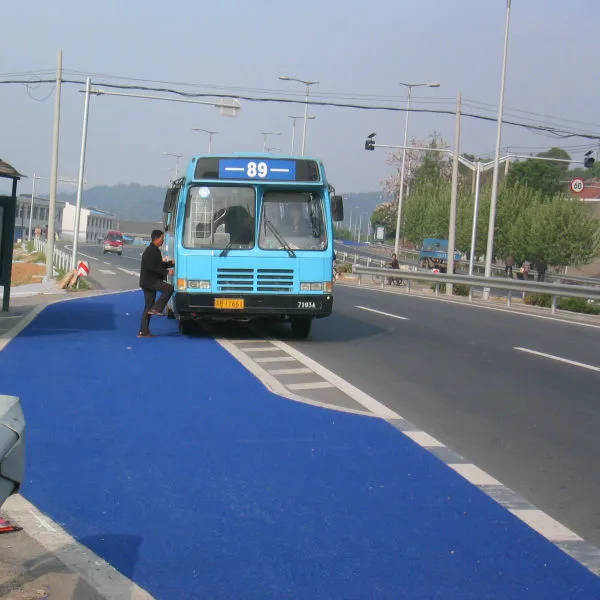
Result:
<svg viewBox="0 0 600 600"><path fill-rule="evenodd" d="M254 247L256 193L245 186L193 186L185 207L185 248Z"/></svg>

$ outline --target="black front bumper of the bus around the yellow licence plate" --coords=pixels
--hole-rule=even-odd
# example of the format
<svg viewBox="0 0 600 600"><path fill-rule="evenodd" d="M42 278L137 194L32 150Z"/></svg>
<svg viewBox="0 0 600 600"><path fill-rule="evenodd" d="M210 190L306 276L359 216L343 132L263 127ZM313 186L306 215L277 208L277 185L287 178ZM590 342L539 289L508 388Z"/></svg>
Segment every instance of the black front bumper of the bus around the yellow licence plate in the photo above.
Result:
<svg viewBox="0 0 600 600"><path fill-rule="evenodd" d="M243 308L217 308L217 300L242 300ZM258 317L303 316L317 319L328 317L333 309L333 296L266 295L266 294L205 294L177 292L173 308L179 318L248 319Z"/></svg>

